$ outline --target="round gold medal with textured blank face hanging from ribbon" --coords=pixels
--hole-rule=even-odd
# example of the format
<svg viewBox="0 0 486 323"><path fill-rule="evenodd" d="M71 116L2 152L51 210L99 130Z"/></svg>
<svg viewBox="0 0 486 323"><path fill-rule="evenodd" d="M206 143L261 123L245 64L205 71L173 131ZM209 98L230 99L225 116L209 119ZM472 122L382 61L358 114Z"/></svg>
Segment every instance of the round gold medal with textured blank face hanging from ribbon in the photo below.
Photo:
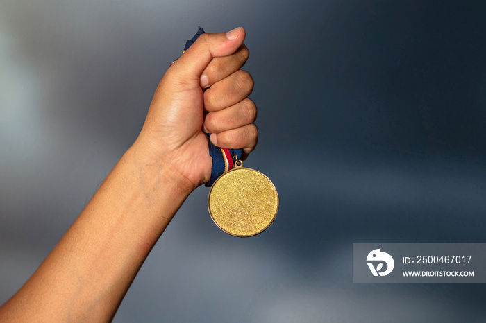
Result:
<svg viewBox="0 0 486 323"><path fill-rule="evenodd" d="M274 184L259 171L234 168L212 184L208 209L216 225L232 236L254 236L277 215Z"/></svg>

